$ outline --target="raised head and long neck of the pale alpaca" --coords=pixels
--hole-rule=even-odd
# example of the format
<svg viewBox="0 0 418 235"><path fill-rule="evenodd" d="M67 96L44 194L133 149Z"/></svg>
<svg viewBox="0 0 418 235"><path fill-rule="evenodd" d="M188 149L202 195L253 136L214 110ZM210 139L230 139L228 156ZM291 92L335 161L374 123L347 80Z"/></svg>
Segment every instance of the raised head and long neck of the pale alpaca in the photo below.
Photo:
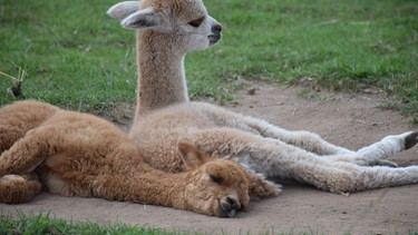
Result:
<svg viewBox="0 0 418 235"><path fill-rule="evenodd" d="M126 1L115 4L108 13L116 19L123 19L121 23L126 28L143 27L140 23L146 23L146 28L155 27L155 30L142 30L137 35L139 39L137 50L140 53L137 58L139 105L136 112L146 114L156 108L188 101L184 79L185 53L215 45L221 39L222 27L215 19L207 16L206 9L202 8L198 2L191 1L187 8L177 4L179 11L172 12L165 3L150 1L140 3L144 10L137 11L139 2ZM161 11L166 11L165 14L172 13L173 17L153 18L153 12L147 8L150 4ZM127 14L132 14L132 18L126 18ZM164 92L159 92L161 90ZM142 96L148 98L140 99Z"/></svg>

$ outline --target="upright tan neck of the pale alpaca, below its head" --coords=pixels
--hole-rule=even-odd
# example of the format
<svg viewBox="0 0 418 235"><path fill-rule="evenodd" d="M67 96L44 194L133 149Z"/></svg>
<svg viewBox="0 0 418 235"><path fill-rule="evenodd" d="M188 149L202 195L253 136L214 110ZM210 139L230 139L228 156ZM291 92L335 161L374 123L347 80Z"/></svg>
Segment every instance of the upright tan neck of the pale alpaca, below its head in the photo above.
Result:
<svg viewBox="0 0 418 235"><path fill-rule="evenodd" d="M138 91L136 115L188 101L185 53L164 43L158 32L137 32Z"/></svg>

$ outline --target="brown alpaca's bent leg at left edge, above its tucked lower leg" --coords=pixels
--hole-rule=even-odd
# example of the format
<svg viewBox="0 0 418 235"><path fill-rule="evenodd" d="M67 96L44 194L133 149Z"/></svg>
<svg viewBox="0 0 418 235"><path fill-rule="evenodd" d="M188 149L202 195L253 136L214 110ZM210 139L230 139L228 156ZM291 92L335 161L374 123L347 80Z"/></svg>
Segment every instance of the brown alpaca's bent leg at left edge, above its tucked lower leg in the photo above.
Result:
<svg viewBox="0 0 418 235"><path fill-rule="evenodd" d="M50 156L48 131L30 130L0 156L0 176L7 174L26 174L32 172L42 160Z"/></svg>

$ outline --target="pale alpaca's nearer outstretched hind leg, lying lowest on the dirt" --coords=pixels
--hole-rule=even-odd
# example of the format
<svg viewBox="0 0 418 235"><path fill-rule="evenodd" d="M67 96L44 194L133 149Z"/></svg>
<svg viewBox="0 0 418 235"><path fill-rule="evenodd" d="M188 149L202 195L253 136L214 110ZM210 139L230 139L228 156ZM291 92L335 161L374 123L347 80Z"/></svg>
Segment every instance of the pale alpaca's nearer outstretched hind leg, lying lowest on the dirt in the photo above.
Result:
<svg viewBox="0 0 418 235"><path fill-rule="evenodd" d="M404 137L400 135L388 143L393 144ZM336 193L418 183L418 166L363 167L336 161L275 139L231 128L201 130L188 136L187 141L207 154L237 159L266 176L293 178Z"/></svg>

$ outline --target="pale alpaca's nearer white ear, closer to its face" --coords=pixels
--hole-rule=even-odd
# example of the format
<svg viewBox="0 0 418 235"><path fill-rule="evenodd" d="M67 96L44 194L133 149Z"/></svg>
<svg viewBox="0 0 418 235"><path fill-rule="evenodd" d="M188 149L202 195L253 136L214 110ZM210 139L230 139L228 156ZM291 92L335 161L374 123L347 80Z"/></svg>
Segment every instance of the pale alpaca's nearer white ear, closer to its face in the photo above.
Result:
<svg viewBox="0 0 418 235"><path fill-rule="evenodd" d="M159 26L159 16L152 8L147 8L129 14L120 23L127 29L146 29Z"/></svg>

